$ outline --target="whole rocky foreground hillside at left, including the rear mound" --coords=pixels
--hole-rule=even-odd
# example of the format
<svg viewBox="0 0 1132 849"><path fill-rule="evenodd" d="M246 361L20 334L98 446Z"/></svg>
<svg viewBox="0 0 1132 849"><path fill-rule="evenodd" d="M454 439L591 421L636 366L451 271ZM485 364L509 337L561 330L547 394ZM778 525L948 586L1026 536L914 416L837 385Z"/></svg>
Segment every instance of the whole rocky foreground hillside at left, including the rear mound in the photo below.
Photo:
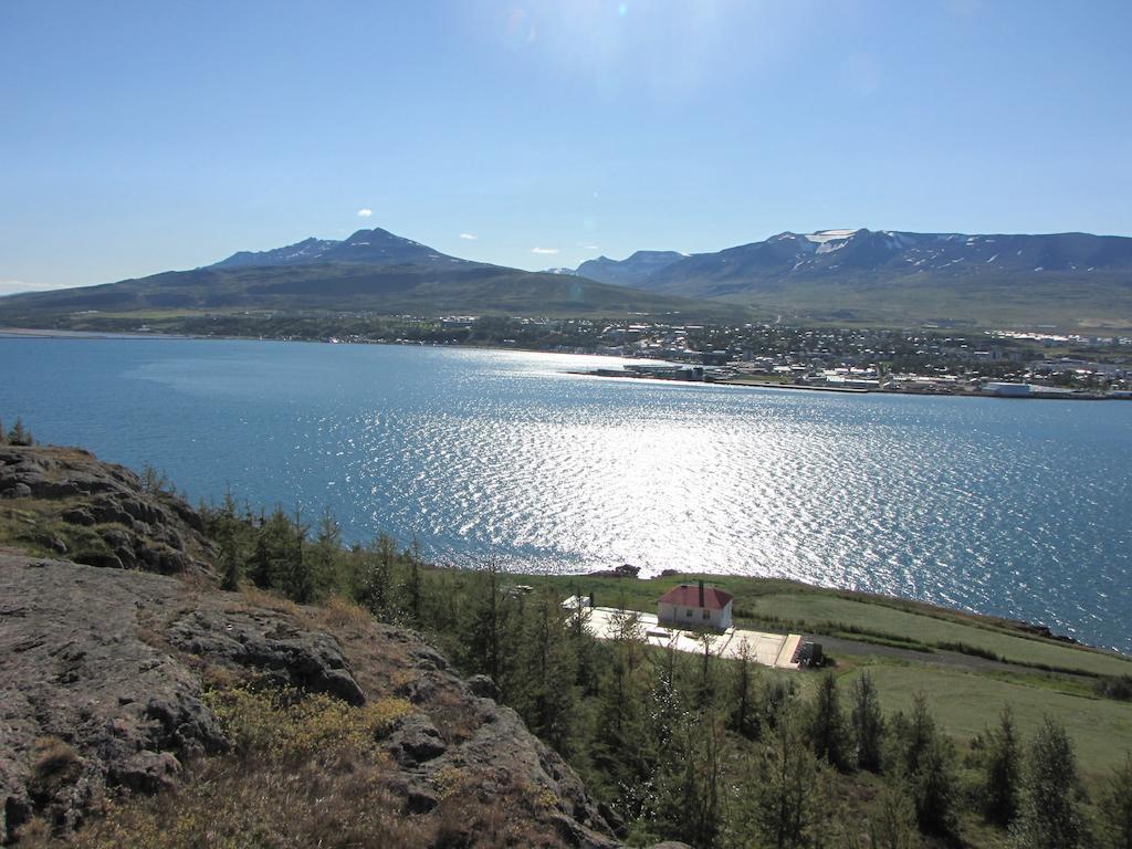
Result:
<svg viewBox="0 0 1132 849"><path fill-rule="evenodd" d="M349 606L216 590L201 531L183 501L121 466L0 446L0 843L24 826L82 838L106 800L178 784L183 800L215 770L257 780L223 700L267 687L325 694L355 717L396 707L361 760L303 773L319 799L346 789L351 822L319 820L332 831L357 826L365 786L406 846L619 846L612 813L495 701L490 678L464 680L419 635ZM365 781L334 783L351 773Z"/></svg>

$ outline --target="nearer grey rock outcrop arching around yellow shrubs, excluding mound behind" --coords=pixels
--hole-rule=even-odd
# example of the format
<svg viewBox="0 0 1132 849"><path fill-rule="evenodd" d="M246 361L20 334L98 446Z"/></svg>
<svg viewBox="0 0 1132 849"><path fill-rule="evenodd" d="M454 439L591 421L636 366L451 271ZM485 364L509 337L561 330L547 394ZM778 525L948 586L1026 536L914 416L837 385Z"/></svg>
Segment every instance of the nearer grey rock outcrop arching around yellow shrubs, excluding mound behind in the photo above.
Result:
<svg viewBox="0 0 1132 849"><path fill-rule="evenodd" d="M80 829L103 799L161 791L232 745L206 681L256 679L411 705L380 746L401 814L511 817L538 846L615 847L581 780L418 635L199 581L0 551L0 841L31 817ZM466 821L453 825L458 799ZM500 814L499 812L503 812ZM424 829L424 825L422 825ZM423 833L423 832L422 832ZM457 834L458 838L458 834Z"/></svg>

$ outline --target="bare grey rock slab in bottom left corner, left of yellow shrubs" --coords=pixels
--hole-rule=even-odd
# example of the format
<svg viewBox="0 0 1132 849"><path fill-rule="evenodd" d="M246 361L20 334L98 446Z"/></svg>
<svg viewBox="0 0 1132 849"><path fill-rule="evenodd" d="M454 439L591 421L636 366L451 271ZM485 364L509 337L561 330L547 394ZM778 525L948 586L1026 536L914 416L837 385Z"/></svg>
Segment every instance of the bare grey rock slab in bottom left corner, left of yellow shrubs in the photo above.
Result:
<svg viewBox="0 0 1132 849"><path fill-rule="evenodd" d="M0 839L70 830L108 786L170 784L226 741L199 677L146 640L175 581L0 554Z"/></svg>

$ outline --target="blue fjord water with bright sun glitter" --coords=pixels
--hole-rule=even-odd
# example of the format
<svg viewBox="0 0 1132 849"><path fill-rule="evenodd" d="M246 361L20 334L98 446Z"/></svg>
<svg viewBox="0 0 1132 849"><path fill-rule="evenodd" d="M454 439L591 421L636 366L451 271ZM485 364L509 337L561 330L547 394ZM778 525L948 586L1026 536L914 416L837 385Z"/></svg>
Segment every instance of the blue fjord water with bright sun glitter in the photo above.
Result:
<svg viewBox="0 0 1132 849"><path fill-rule="evenodd" d="M0 338L0 415L190 499L328 508L432 558L794 577L1132 651L1132 403L567 374L609 358Z"/></svg>

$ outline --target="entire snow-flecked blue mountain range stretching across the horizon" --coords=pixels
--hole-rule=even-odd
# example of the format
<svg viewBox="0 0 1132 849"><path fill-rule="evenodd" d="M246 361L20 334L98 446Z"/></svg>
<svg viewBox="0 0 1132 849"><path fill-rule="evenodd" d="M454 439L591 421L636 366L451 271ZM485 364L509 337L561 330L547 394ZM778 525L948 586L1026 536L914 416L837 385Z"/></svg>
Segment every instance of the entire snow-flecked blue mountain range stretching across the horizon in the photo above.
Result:
<svg viewBox="0 0 1132 849"><path fill-rule="evenodd" d="M1132 239L822 230L526 272L375 228L191 271L0 298L0 324L249 309L1123 329L1132 328Z"/></svg>

